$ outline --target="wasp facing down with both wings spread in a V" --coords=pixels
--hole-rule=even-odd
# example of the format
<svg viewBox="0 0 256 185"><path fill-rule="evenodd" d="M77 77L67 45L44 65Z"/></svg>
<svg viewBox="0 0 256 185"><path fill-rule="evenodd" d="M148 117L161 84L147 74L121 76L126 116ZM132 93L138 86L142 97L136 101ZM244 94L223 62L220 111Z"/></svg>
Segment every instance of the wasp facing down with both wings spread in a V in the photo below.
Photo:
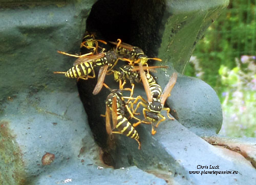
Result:
<svg viewBox="0 0 256 185"><path fill-rule="evenodd" d="M152 78L146 77L144 70L142 69L142 64L139 64L139 71L140 77L146 92L147 101L143 99L141 96L137 96L133 102L133 104L137 103L138 100L141 100L137 105L136 109L133 111L133 114L136 114L137 109L142 105L143 108L143 115L146 120L149 120L152 124L152 135L156 134L156 130L154 128L153 123L157 122L156 127L164 121L166 118L160 114L162 110L167 112L167 117L171 120L174 118L169 116L170 109L164 108L164 103L168 96L170 96L170 91L172 91L174 85L177 81L177 73L173 73L172 77L170 77L169 82L164 88L162 92L161 87L156 85L155 80L153 81ZM151 84L151 85L150 85ZM154 86L153 86L154 85ZM132 106L133 107L133 106ZM161 118L161 119L160 119ZM160 119L160 120L159 120ZM142 121L138 121L137 123L133 124L134 127L139 125Z"/></svg>

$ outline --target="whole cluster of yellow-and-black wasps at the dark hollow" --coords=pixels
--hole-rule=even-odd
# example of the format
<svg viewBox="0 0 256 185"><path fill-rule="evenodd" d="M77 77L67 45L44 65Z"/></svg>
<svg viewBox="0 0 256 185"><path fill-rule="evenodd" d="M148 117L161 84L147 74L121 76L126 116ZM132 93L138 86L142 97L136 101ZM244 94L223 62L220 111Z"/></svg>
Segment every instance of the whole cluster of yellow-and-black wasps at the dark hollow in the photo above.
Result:
<svg viewBox="0 0 256 185"><path fill-rule="evenodd" d="M106 51L105 47L100 45L111 44L112 49ZM139 47L122 43L120 39L117 42L105 42L95 39L94 34L86 33L81 43L81 48L89 50L84 55L71 55L63 51L58 51L60 54L76 57L74 66L67 72L54 72L65 74L70 78L80 78L88 80L95 77L94 69L100 67L98 74L98 82L95 86L93 94L98 94L104 86L110 90L110 94L106 97L105 105L105 125L109 135L123 134L137 141L139 149L141 143L139 134L135 127L140 123L152 125L152 135L156 134L155 127L164 121L166 118L161 114L164 110L167 112L167 117L171 120L174 118L169 116L170 109L164 107L164 103L170 92L172 91L176 80L177 73L173 73L169 82L162 91L162 88L156 83L155 78L150 74L149 70L154 68L167 68L167 66L148 66L147 61L150 59L161 61L158 58L148 58L143 50ZM128 64L114 69L117 62L126 61ZM146 71L146 72L145 72ZM106 74L114 74L114 80L119 82L119 89L111 89L104 83ZM147 100L142 96L133 97L135 83L142 81ZM130 82L131 88L124 88L126 82ZM123 91L130 91L130 96L124 96ZM136 107L135 107L136 105ZM135 115L139 107L143 107L144 120L140 120ZM135 109L134 109L135 107ZM132 124L131 119L136 119L137 122ZM155 124L156 123L156 124ZM154 126L155 125L155 126Z"/></svg>

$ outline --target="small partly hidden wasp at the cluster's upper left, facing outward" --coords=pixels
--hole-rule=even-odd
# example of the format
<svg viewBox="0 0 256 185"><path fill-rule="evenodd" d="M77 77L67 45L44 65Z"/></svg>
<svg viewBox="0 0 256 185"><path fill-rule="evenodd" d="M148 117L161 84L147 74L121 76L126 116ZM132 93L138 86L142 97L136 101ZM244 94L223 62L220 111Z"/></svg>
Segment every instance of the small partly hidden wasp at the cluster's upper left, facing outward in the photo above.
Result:
<svg viewBox="0 0 256 185"><path fill-rule="evenodd" d="M81 42L80 48L81 47L86 47L90 51L93 50L93 54L96 52L98 54L98 47L99 44L98 42L101 42L103 44L107 44L103 40L95 39L94 34L90 34L89 32L86 32L86 36L83 37L83 41ZM104 50L104 48L103 48Z"/></svg>

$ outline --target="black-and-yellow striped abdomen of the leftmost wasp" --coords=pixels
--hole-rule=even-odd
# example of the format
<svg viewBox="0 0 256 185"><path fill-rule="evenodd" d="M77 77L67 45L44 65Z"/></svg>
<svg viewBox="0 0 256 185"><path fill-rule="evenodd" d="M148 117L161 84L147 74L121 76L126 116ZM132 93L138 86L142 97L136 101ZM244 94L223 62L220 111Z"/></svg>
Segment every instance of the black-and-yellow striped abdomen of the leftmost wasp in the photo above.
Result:
<svg viewBox="0 0 256 185"><path fill-rule="evenodd" d="M93 70L94 69L91 62L84 62L70 68L65 73L65 76L69 78L87 77Z"/></svg>

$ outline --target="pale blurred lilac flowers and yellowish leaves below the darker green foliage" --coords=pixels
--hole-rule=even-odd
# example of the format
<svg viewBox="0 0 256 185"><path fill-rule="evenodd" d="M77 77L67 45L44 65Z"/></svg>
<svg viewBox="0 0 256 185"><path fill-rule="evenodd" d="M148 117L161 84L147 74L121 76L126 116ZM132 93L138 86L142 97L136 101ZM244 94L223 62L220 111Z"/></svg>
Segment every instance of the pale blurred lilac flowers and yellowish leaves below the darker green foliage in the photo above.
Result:
<svg viewBox="0 0 256 185"><path fill-rule="evenodd" d="M239 65L239 64L238 64ZM220 74L226 85L222 103L223 125L220 134L233 137L256 137L256 65L244 73L239 67L227 70L222 66Z"/></svg>

